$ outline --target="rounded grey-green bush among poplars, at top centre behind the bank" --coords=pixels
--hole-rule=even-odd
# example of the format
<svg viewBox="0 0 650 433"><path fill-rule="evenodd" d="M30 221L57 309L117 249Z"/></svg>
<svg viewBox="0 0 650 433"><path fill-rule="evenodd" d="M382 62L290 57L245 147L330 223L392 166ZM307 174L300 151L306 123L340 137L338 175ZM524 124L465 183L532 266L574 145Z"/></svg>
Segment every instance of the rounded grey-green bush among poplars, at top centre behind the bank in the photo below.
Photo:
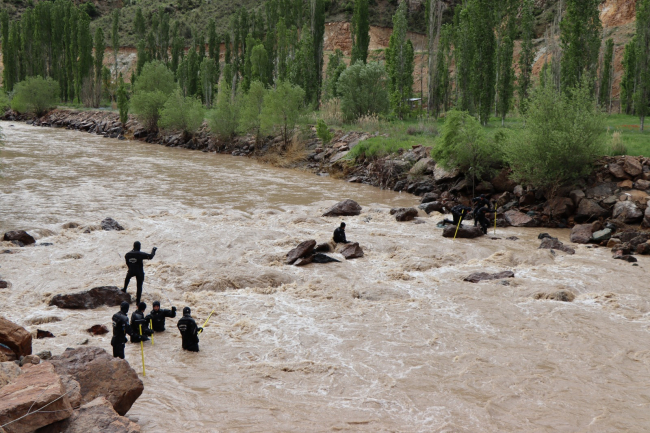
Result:
<svg viewBox="0 0 650 433"><path fill-rule="evenodd" d="M345 119L385 113L389 105L386 84L386 70L377 62L364 65L359 60L343 71L337 87Z"/></svg>

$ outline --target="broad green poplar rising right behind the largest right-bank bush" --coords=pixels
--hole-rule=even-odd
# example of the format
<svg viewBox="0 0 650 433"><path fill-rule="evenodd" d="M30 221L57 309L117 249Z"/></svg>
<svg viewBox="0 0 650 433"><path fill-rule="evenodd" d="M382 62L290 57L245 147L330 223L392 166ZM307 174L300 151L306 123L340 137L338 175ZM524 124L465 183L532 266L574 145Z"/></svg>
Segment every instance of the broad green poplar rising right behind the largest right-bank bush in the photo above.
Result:
<svg viewBox="0 0 650 433"><path fill-rule="evenodd" d="M602 32L599 5L600 0L567 0L560 23L561 87L565 90L579 85L585 74L595 90Z"/></svg>

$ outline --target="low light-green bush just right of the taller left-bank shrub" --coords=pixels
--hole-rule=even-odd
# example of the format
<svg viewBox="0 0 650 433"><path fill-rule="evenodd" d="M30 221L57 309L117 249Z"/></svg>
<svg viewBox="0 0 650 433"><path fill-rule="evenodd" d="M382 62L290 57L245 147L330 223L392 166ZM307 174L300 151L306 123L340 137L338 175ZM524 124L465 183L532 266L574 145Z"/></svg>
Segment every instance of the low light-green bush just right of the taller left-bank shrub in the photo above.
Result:
<svg viewBox="0 0 650 433"><path fill-rule="evenodd" d="M182 131L187 138L199 130L204 116L205 109L198 98L183 96L180 89L176 89L160 112L158 126L164 130Z"/></svg>

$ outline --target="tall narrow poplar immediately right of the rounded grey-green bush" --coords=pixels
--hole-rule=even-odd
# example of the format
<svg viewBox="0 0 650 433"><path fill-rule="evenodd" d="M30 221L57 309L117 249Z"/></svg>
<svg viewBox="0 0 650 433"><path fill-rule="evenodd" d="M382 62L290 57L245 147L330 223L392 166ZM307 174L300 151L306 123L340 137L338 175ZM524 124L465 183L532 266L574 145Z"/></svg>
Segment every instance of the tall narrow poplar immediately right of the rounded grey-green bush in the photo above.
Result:
<svg viewBox="0 0 650 433"><path fill-rule="evenodd" d="M409 98L413 88L413 44L410 39L406 39L406 31L406 2L402 2L393 15L393 33L386 50L391 107L400 119L409 112Z"/></svg>

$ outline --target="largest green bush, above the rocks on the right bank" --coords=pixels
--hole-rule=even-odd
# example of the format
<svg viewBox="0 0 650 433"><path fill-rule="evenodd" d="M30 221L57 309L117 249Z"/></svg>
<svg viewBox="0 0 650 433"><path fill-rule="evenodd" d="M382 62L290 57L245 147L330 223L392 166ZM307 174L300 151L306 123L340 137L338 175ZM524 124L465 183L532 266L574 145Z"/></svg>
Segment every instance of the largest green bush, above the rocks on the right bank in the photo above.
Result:
<svg viewBox="0 0 650 433"><path fill-rule="evenodd" d="M533 92L525 127L505 146L512 178L551 195L560 186L592 170L605 150L605 116L591 96L585 77L578 87L557 91L539 86Z"/></svg>

